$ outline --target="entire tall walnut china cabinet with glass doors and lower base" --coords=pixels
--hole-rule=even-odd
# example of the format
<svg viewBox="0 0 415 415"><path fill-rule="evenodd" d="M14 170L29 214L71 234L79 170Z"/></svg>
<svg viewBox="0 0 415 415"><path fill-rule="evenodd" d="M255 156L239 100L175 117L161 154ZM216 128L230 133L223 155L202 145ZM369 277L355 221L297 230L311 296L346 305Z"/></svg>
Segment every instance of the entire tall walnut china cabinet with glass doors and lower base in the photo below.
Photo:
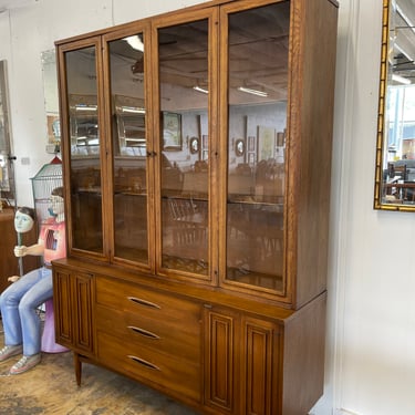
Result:
<svg viewBox="0 0 415 415"><path fill-rule="evenodd" d="M58 341L206 414L323 392L338 3L217 0L56 42Z"/></svg>

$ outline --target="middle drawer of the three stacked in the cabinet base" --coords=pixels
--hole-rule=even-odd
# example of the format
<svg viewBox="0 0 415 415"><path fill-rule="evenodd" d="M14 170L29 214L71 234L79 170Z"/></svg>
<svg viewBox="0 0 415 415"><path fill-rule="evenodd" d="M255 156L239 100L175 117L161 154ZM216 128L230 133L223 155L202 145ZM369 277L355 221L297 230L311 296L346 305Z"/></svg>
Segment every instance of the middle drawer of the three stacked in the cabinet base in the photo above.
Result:
<svg viewBox="0 0 415 415"><path fill-rule="evenodd" d="M143 313L123 312L103 305L95 310L97 331L111 333L126 344L139 344L160 353L175 354L189 361L200 356L199 308L194 307L184 320L159 311L154 319Z"/></svg>

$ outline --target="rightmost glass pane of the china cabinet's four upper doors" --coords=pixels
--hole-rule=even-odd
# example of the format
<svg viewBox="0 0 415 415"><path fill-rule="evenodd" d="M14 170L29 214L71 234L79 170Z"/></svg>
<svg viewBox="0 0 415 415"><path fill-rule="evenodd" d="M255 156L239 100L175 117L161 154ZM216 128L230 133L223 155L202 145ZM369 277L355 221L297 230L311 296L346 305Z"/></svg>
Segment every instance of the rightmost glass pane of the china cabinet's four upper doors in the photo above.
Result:
<svg viewBox="0 0 415 415"><path fill-rule="evenodd" d="M227 279L282 290L289 2L229 15Z"/></svg>

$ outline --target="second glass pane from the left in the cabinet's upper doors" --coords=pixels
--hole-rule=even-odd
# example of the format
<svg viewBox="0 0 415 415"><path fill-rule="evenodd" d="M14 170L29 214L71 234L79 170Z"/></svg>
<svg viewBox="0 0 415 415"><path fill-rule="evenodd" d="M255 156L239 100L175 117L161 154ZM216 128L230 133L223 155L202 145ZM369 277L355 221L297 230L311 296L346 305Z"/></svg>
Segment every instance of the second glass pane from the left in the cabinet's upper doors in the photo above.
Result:
<svg viewBox="0 0 415 415"><path fill-rule="evenodd" d="M113 98L115 256L148 262L144 37L108 43Z"/></svg>

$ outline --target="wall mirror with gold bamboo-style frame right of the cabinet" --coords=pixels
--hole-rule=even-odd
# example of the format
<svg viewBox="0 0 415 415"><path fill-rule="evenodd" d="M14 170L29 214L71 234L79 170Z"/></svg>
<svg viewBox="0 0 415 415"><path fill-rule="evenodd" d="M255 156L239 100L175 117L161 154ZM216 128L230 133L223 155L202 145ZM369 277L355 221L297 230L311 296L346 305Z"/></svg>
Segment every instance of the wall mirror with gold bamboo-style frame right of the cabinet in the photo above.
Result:
<svg viewBox="0 0 415 415"><path fill-rule="evenodd" d="M383 0L374 208L415 211L415 0Z"/></svg>

